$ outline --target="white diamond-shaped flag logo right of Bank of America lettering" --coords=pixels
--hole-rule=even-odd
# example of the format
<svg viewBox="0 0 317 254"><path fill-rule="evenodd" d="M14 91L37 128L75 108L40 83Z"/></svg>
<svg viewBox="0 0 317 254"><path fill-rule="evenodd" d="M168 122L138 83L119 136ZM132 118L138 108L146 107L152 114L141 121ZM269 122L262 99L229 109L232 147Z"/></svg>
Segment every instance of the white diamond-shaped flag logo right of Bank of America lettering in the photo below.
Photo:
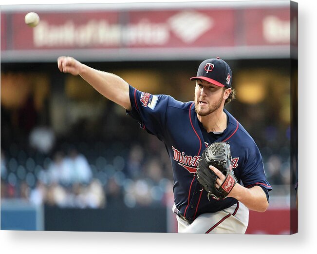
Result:
<svg viewBox="0 0 317 254"><path fill-rule="evenodd" d="M192 43L213 27L214 21L199 12L184 11L168 20L171 31L186 43Z"/></svg>

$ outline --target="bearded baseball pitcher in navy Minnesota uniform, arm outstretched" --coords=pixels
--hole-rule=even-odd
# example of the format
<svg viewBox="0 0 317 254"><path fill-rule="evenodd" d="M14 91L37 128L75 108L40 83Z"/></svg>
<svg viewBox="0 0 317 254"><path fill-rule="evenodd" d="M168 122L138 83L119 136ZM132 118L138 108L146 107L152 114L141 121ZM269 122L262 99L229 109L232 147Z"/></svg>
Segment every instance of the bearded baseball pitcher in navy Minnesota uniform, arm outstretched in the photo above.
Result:
<svg viewBox="0 0 317 254"><path fill-rule="evenodd" d="M249 210L264 212L272 190L253 138L224 105L235 97L232 71L220 58L206 59L193 80L194 101L138 91L122 78L72 57L58 69L80 75L121 105L143 130L165 145L173 169L173 211L180 233L244 234Z"/></svg>

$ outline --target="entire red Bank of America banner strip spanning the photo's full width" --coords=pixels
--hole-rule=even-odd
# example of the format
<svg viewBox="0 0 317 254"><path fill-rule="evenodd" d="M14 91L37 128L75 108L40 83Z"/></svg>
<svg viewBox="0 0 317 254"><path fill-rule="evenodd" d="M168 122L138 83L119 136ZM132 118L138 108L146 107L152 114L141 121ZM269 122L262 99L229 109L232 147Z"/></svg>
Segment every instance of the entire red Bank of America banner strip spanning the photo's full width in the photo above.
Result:
<svg viewBox="0 0 317 254"><path fill-rule="evenodd" d="M293 12L292 17L290 13L290 6L47 11L38 12L40 22L32 28L24 24L25 12L1 12L1 50L10 49L10 54L24 50L34 56L42 54L38 53L43 52L41 50L47 53L57 49L96 49L90 52L103 54L105 51L102 50L109 49L108 53L117 56L117 50L129 55L144 49L140 52L146 55L146 50L150 49L152 53L156 52L154 55L161 56L161 49L171 53L176 49L188 50L188 55L197 51L213 55L211 50L228 50L234 54L234 50L240 47L257 46L261 49L261 46L278 45L283 46L287 53L290 40L297 45L297 13ZM293 33L290 33L291 25Z"/></svg>

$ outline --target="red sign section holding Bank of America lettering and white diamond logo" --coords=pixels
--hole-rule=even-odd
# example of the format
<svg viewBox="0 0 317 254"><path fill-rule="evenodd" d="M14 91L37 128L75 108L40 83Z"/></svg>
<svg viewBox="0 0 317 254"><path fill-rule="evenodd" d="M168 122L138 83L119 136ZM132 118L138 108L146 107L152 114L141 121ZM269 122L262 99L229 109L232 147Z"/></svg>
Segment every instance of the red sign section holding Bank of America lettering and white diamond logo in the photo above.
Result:
<svg viewBox="0 0 317 254"><path fill-rule="evenodd" d="M38 14L34 28L13 15L14 49L234 46L233 10Z"/></svg>

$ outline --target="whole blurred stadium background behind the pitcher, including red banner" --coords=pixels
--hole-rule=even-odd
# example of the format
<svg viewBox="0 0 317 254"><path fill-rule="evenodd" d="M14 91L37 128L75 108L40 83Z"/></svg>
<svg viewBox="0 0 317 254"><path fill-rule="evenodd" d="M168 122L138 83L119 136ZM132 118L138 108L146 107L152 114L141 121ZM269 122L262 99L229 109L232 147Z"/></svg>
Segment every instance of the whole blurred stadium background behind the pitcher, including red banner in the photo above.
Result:
<svg viewBox="0 0 317 254"><path fill-rule="evenodd" d="M35 28L24 24L29 11L40 16ZM297 232L289 1L2 5L0 21L1 230L176 232L164 145L81 78L59 73L56 59L188 101L199 63L219 56L237 91L226 108L254 137L273 186L247 234Z"/></svg>

